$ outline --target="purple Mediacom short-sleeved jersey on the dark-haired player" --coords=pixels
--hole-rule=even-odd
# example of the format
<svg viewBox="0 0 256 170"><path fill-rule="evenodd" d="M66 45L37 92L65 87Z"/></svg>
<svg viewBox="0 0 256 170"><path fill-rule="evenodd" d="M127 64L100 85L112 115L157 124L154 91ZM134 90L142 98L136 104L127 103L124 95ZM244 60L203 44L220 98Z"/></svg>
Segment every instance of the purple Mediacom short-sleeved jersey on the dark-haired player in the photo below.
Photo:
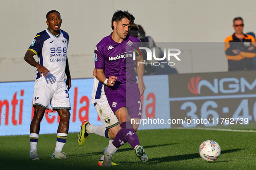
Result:
<svg viewBox="0 0 256 170"><path fill-rule="evenodd" d="M111 35L112 33L103 38L95 47L95 68L104 69L107 78L116 76L117 82L114 87L134 85L137 79L133 56L137 54L141 41L139 38L127 35L121 43L117 43Z"/></svg>

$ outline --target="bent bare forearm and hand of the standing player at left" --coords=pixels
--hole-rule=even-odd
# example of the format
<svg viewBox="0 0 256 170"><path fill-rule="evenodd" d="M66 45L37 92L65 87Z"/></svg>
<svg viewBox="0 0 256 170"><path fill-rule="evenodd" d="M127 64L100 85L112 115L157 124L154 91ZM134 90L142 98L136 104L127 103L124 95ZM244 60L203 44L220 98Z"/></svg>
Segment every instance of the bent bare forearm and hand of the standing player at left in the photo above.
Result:
<svg viewBox="0 0 256 170"><path fill-rule="evenodd" d="M31 66L34 66L37 68L38 72L40 73L40 76L42 77L42 74L44 76L48 76L48 73L50 72L50 70L46 69L44 66L42 66L41 64L39 64L38 62L36 62L36 60L34 59L34 55L36 55L33 51L31 50L27 50L24 60L29 63Z"/></svg>

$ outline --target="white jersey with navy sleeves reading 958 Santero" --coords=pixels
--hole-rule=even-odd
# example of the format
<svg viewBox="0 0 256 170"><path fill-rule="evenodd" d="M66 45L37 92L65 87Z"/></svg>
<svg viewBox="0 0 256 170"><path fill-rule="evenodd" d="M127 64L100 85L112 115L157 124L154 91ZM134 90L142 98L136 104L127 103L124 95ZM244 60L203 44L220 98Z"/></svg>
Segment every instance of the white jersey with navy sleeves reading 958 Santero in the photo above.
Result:
<svg viewBox="0 0 256 170"><path fill-rule="evenodd" d="M48 76L40 77L36 70L36 79L48 82L64 82L68 50L68 33L60 30L59 35L52 34L48 28L37 33L28 50L38 56L38 63L50 72Z"/></svg>

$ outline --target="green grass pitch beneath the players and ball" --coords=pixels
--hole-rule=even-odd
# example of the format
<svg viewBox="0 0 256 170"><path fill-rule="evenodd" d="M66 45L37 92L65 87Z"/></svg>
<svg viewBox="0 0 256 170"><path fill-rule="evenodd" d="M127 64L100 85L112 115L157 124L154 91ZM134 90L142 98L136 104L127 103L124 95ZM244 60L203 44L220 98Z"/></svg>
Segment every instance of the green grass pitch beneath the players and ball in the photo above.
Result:
<svg viewBox="0 0 256 170"><path fill-rule="evenodd" d="M63 152L70 159L63 160L51 159L56 134L39 135L39 161L29 160L29 135L0 136L0 169L247 170L256 167L256 131L152 129L138 130L137 134L149 161L141 162L133 148L126 143L114 154L113 162L120 165L113 167L97 166L108 139L94 134L88 136L83 146L79 146L77 133L69 133ZM208 139L215 140L221 147L217 161L207 162L199 156L199 145Z"/></svg>

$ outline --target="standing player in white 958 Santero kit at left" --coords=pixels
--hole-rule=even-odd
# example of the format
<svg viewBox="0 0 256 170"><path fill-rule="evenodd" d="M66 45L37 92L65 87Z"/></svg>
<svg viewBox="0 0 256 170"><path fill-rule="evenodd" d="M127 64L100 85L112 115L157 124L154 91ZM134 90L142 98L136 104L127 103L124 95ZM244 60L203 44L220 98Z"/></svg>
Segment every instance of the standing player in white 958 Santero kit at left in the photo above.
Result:
<svg viewBox="0 0 256 170"><path fill-rule="evenodd" d="M46 14L46 19L48 28L36 35L24 57L27 63L37 68L33 94L35 112L30 124L29 135L29 158L31 160L39 160L37 142L40 122L45 109L49 109L49 104L51 104L52 110L56 110L60 116L57 142L52 159L67 158L62 152L62 148L68 136L69 110L71 109L68 94L68 90L71 88L71 76L67 58L69 36L68 33L60 29L62 19L58 11L49 11ZM34 59L35 55L38 56L39 62Z"/></svg>

